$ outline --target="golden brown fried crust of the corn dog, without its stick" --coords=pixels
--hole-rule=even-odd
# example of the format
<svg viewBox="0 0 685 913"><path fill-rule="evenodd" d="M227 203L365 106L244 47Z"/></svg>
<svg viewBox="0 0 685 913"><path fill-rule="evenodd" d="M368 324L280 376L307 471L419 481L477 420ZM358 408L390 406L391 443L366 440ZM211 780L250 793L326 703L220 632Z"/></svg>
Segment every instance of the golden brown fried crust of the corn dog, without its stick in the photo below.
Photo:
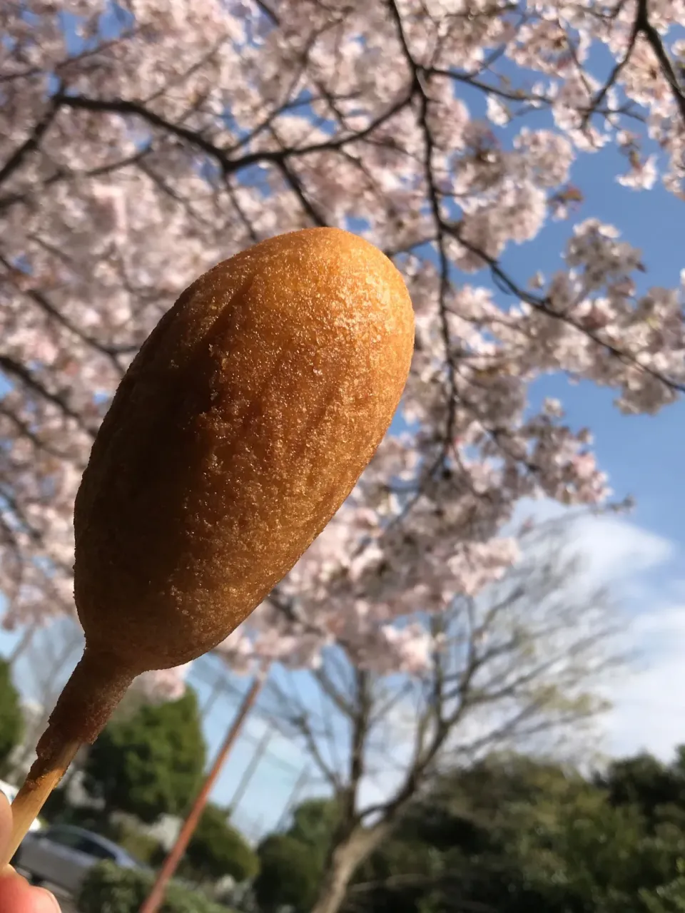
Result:
<svg viewBox="0 0 685 913"><path fill-rule="evenodd" d="M122 381L79 489L90 647L138 672L223 640L352 490L413 346L400 274L337 229L272 238L186 289Z"/></svg>

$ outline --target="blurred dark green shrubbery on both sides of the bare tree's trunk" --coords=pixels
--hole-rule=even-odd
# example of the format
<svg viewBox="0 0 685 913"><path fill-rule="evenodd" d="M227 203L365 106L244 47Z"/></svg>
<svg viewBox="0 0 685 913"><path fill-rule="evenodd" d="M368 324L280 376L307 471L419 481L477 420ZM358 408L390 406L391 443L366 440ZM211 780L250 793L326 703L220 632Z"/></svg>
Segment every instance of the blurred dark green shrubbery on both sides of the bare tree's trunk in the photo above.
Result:
<svg viewBox="0 0 685 913"><path fill-rule="evenodd" d="M650 755L585 778L555 763L492 756L441 777L360 866L349 913L680 913L685 778ZM258 848L265 913L306 913L336 826L310 800Z"/></svg>

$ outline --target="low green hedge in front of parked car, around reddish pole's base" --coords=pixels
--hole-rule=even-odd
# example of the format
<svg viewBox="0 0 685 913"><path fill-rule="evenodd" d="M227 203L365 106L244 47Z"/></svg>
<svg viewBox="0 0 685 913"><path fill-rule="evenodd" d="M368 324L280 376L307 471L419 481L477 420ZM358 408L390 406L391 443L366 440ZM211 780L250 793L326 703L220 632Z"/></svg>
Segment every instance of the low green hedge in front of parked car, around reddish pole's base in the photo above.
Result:
<svg viewBox="0 0 685 913"><path fill-rule="evenodd" d="M90 869L79 894L80 913L138 913L153 886L153 876L103 862ZM160 913L231 913L202 894L174 885L167 888Z"/></svg>

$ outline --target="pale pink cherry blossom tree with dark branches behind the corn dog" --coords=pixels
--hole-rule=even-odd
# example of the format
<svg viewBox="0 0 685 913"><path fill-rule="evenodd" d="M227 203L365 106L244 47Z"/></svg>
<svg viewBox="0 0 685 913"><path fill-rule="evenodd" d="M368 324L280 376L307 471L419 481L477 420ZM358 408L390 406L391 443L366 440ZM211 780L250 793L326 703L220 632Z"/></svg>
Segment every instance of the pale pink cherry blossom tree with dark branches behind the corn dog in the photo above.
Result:
<svg viewBox="0 0 685 913"><path fill-rule="evenodd" d="M222 653L430 666L427 620L506 572L522 498L608 495L591 432L533 411L531 383L590 380L627 414L685 384L685 276L650 287L571 183L613 146L627 211L658 182L683 196L683 23L684 0L5 0L5 627L73 612L79 477L164 310L260 238L331 225L403 271L412 373L353 496ZM509 272L551 220L563 265Z"/></svg>

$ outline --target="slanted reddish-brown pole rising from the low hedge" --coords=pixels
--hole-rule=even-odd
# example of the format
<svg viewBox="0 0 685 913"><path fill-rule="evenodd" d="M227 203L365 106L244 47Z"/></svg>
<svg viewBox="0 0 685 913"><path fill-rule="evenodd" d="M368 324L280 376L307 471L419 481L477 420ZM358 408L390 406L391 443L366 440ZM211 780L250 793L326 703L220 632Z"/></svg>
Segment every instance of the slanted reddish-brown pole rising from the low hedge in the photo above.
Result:
<svg viewBox="0 0 685 913"><path fill-rule="evenodd" d="M195 828L200 821L200 817L205 808L205 804L209 798L209 793L212 792L212 787L214 786L216 778L221 772L222 767L226 763L231 749L236 743L240 729L243 728L243 724L245 723L245 720L248 719L249 712L254 707L259 692L264 687L264 684L267 680L268 671L268 665L262 666L258 674L252 680L252 684L248 688L248 693L245 695L245 698L243 698L243 702L238 708L237 714L233 719L231 728L228 729L226 739L224 740L223 745L216 755L212 769L207 774L202 789L195 799L193 808L188 813L188 816L185 819L183 827L181 828L178 836L176 837L176 842L171 848L169 855L164 860L164 864L154 882L153 889L143 903L140 909L140 913L157 913L157 910L161 907L164 899L164 893L166 891L166 886L174 876L174 872L176 871L176 868L178 867L178 864L184 855L185 849L190 843L190 838L193 836Z"/></svg>

